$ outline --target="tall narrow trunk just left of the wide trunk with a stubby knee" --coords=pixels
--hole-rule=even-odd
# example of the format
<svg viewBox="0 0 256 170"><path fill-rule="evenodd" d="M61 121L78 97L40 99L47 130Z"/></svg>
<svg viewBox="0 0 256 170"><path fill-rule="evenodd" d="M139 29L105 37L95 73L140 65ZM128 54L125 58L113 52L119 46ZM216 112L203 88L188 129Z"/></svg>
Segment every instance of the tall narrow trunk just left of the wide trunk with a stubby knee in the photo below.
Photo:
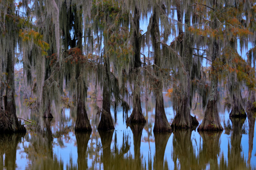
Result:
<svg viewBox="0 0 256 170"><path fill-rule="evenodd" d="M161 65L161 49L160 49L160 31L159 31L159 12L156 11L156 6L153 9L153 15L150 20L152 20L151 26L151 41L152 47L154 49L154 66L153 70L156 74L156 77L153 78L153 84L156 94L156 113L155 113L155 125L154 132L162 132L162 131L172 131L172 128L167 120L164 110L164 98L163 98L163 82L161 79L161 72L159 66Z"/></svg>

